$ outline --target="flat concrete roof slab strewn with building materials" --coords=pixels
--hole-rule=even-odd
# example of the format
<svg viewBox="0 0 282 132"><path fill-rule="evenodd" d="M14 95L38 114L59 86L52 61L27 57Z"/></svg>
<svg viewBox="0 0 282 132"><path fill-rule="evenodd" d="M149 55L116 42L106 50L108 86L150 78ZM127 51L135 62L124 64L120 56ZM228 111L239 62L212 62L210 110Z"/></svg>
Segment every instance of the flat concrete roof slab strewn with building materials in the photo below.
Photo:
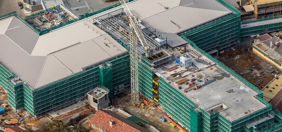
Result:
<svg viewBox="0 0 282 132"><path fill-rule="evenodd" d="M200 54L200 52L198 52L191 46L189 46L188 49L189 51L193 50ZM182 56L179 51L173 51L173 53L176 56ZM201 55L201 58L210 62L210 65L198 63L194 58L192 58L192 63L194 63L194 65L198 67L198 69L192 66L185 69L184 67L179 66L179 64L176 63L176 60L173 60L172 63L158 67L154 69L154 71L157 75L160 75L167 82L171 82L171 86L173 86L176 90L189 98L189 100L192 100L195 104L197 104L198 107L201 107L201 109L204 109L207 112L209 112L215 106L224 105L225 108L220 110L219 113L225 116L225 118L227 118L229 121L234 121L238 118L244 117L250 113L266 107L263 103L255 98L255 96L258 94L250 87L239 81L234 76L228 74L228 72L213 63L207 57ZM166 70L167 68L173 67L175 65L178 65L178 69L170 72ZM172 76L172 74L174 73L181 72L187 69L189 71L184 72L179 78L177 78L177 76ZM222 75L217 72L218 70L221 71L220 73L225 72L226 74ZM203 85L204 81L212 80L214 78L217 78L217 80L197 90L193 90L192 88L185 90L189 87L189 84L184 83L178 85L176 83L183 78L191 80L192 78L196 78L197 75L203 75L205 79L200 79L201 82L197 81L196 79L196 84ZM191 83L191 81L187 82ZM179 86L181 86L182 88L179 89ZM184 90L187 92L185 92Z"/></svg>

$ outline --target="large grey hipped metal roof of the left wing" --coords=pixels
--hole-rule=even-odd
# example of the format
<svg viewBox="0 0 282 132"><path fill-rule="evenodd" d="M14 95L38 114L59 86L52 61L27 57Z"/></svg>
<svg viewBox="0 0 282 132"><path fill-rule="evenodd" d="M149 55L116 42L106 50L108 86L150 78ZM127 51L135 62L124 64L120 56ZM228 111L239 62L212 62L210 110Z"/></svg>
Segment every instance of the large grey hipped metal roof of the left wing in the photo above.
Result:
<svg viewBox="0 0 282 132"><path fill-rule="evenodd" d="M127 50L87 20L39 36L16 17L0 21L0 62L33 89Z"/></svg>

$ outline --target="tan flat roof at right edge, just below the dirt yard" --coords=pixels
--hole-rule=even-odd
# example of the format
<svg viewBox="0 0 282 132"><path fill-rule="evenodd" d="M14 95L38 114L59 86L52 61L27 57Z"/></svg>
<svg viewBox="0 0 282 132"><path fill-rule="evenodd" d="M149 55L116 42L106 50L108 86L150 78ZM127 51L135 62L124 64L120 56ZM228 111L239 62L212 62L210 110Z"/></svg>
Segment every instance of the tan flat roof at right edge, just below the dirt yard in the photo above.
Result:
<svg viewBox="0 0 282 132"><path fill-rule="evenodd" d="M263 89L263 100L266 102L270 102L277 93L281 90L282 85L282 75L278 75L277 77L273 78L271 82L269 82Z"/></svg>

